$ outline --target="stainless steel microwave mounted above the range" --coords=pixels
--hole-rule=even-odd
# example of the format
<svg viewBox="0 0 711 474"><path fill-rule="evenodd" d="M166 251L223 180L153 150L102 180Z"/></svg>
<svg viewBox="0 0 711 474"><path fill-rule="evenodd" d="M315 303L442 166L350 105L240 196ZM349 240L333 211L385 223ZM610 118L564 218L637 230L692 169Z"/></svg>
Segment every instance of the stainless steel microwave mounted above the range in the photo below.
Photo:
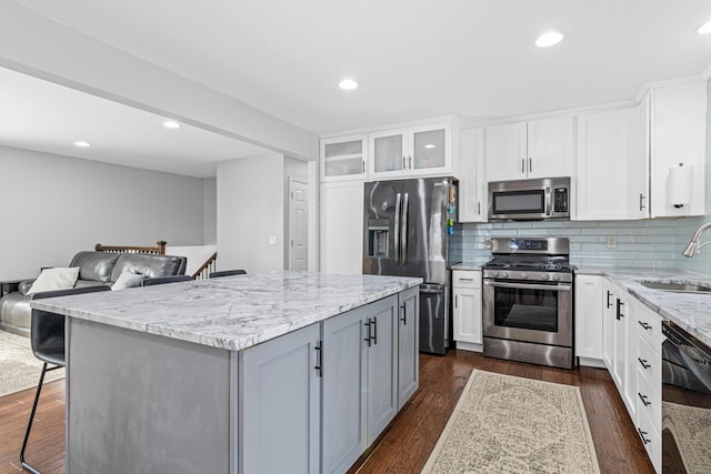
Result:
<svg viewBox="0 0 711 474"><path fill-rule="evenodd" d="M570 219L570 178L489 183L490 221Z"/></svg>

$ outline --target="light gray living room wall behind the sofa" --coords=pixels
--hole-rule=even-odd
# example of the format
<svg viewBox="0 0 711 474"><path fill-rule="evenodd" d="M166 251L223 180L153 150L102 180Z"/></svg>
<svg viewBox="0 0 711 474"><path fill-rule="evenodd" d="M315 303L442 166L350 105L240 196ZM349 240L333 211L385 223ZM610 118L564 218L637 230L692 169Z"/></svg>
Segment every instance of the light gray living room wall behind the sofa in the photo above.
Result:
<svg viewBox="0 0 711 474"><path fill-rule="evenodd" d="M0 147L0 279L64 266L96 243L201 244L198 178Z"/></svg>

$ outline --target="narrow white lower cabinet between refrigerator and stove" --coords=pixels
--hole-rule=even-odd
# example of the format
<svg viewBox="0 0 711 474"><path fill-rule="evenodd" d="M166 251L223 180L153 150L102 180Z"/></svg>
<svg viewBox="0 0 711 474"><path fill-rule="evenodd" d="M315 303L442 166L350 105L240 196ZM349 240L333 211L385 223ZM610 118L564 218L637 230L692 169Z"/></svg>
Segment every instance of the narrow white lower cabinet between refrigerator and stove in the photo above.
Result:
<svg viewBox="0 0 711 474"><path fill-rule="evenodd" d="M452 271L452 325L457 349L481 352L481 271Z"/></svg>

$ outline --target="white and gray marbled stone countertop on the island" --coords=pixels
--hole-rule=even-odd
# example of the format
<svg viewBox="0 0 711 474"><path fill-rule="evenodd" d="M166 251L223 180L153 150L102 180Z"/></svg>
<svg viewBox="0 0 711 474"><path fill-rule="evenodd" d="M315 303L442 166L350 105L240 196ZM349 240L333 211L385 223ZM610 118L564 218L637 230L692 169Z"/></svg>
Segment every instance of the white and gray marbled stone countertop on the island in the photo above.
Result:
<svg viewBox="0 0 711 474"><path fill-rule="evenodd" d="M422 279L308 272L223 276L32 301L80 320L238 351L390 296Z"/></svg>

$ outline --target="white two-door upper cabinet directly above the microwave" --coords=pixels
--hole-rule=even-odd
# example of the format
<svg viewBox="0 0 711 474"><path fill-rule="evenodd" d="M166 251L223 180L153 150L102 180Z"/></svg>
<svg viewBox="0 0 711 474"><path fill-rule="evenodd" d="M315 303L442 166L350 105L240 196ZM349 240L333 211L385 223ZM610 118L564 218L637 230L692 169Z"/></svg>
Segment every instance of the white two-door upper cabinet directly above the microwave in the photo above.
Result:
<svg viewBox="0 0 711 474"><path fill-rule="evenodd" d="M570 177L572 115L487 128L487 181Z"/></svg>

